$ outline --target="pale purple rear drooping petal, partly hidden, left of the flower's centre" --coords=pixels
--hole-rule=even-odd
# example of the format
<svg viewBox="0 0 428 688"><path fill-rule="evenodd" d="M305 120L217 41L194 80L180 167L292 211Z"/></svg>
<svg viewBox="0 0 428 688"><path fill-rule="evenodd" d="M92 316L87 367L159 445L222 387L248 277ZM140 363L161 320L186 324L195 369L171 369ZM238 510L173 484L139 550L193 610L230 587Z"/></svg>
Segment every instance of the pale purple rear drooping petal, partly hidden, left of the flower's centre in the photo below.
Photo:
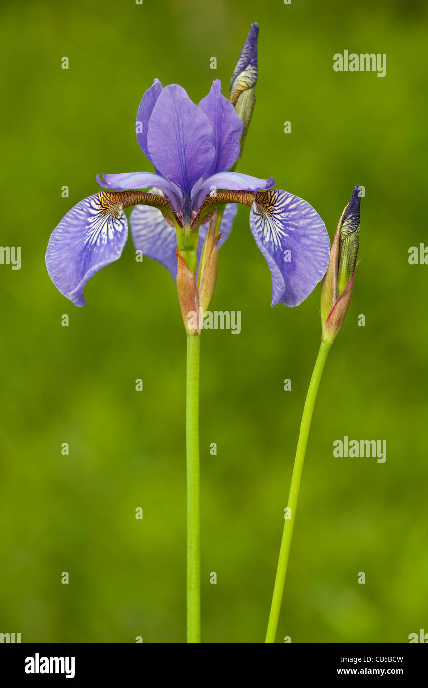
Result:
<svg viewBox="0 0 428 688"><path fill-rule="evenodd" d="M134 246L144 256L156 260L177 279L177 231L161 211L150 206L135 206L129 218Z"/></svg>

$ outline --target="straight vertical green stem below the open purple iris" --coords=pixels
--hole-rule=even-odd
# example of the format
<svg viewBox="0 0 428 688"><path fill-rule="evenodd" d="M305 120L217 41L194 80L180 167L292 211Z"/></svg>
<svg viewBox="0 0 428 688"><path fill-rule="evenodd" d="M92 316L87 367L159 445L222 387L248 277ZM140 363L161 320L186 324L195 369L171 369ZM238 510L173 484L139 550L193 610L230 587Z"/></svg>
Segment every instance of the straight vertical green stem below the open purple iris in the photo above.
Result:
<svg viewBox="0 0 428 688"><path fill-rule="evenodd" d="M188 643L201 642L201 544L199 526L199 336L188 335L186 424Z"/></svg>

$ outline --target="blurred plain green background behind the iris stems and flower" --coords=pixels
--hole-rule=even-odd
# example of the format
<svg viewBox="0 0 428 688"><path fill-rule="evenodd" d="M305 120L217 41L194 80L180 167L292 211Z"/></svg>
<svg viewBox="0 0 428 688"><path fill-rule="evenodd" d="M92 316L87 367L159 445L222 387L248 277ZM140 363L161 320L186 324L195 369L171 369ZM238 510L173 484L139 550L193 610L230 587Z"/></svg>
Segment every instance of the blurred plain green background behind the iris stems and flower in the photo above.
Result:
<svg viewBox="0 0 428 688"><path fill-rule="evenodd" d="M128 241L78 309L50 281L45 249L96 173L151 169L135 118L153 78L196 102L213 78L227 93L251 21L257 103L239 170L304 197L330 237L365 186L362 260L315 409L277 641L407 643L428 631L428 267L407 260L427 236L426 3L17 1L0 19L1 244L22 246L21 270L0 266L0 631L25 643L185 642L174 283L136 263ZM346 49L387 53L387 76L333 72ZM270 299L241 208L212 308L240 310L242 332L201 343L205 643L264 642L319 286L300 308ZM345 435L387 440L387 461L334 458Z"/></svg>

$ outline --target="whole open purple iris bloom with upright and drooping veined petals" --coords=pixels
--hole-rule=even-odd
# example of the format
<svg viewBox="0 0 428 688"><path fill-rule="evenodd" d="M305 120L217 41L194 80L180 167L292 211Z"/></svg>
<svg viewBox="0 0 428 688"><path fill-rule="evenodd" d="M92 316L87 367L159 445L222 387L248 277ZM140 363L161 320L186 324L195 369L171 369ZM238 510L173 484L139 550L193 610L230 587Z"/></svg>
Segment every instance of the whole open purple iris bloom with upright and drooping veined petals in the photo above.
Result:
<svg viewBox="0 0 428 688"><path fill-rule="evenodd" d="M240 154L243 121L215 80L194 105L185 90L155 79L137 114L137 140L155 172L104 174L100 191L78 203L52 233L46 264L56 287L75 305L98 270L117 260L128 236L130 217L137 250L177 277L177 237L181 244L199 232L198 258L207 222L225 206L224 243L237 203L250 206L249 226L271 270L275 303L302 303L328 266L329 240L321 217L304 200L271 189L273 178L229 171ZM150 191L140 191L150 189ZM115 193L120 192L120 193Z"/></svg>

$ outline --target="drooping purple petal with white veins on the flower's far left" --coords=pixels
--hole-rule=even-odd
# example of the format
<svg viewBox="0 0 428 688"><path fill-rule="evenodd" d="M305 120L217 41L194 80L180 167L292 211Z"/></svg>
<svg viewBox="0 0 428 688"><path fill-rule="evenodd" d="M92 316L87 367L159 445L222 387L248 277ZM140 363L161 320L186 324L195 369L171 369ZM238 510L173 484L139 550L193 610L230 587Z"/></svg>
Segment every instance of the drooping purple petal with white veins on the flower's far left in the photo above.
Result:
<svg viewBox="0 0 428 688"><path fill-rule="evenodd" d="M47 271L56 288L74 305L85 305L85 284L120 258L127 237L128 223L113 194L100 191L80 201L54 229L47 246Z"/></svg>

